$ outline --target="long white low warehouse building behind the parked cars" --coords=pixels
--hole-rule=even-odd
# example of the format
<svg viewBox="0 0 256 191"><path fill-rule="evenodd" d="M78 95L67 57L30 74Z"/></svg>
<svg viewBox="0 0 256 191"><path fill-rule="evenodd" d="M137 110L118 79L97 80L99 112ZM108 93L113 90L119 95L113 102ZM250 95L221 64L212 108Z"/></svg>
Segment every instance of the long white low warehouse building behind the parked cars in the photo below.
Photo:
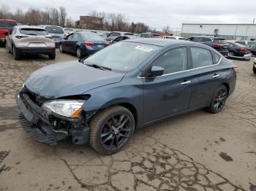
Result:
<svg viewBox="0 0 256 191"><path fill-rule="evenodd" d="M230 40L254 40L256 24L182 24L181 36L195 35L218 36Z"/></svg>

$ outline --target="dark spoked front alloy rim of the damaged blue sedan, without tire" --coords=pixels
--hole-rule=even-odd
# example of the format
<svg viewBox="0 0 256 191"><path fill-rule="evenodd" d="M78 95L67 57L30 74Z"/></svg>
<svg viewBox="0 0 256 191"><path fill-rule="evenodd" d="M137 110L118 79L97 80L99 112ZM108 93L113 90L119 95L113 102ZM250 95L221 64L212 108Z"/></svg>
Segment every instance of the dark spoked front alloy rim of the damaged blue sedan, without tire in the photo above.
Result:
<svg viewBox="0 0 256 191"><path fill-rule="evenodd" d="M118 149L126 144L131 133L131 119L126 114L114 114L102 127L100 143L107 149Z"/></svg>

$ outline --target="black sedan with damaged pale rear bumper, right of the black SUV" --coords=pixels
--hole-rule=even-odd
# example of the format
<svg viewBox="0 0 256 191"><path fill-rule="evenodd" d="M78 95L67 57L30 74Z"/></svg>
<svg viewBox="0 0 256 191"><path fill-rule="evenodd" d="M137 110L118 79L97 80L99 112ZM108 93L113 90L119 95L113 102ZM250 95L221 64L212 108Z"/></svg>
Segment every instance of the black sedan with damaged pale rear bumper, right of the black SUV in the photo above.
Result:
<svg viewBox="0 0 256 191"><path fill-rule="evenodd" d="M252 53L249 48L245 45L238 44L236 42L227 42L228 44L228 56L230 58L243 58L245 60L250 60L252 57Z"/></svg>

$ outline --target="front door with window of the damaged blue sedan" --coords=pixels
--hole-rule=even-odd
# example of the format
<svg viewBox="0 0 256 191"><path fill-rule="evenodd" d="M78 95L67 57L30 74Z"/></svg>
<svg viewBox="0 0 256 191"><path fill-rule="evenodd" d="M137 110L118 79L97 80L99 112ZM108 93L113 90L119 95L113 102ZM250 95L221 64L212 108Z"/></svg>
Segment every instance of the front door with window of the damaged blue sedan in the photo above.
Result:
<svg viewBox="0 0 256 191"><path fill-rule="evenodd" d="M186 111L191 95L187 47L167 50L152 66L162 67L165 71L159 77L143 78L144 123Z"/></svg>

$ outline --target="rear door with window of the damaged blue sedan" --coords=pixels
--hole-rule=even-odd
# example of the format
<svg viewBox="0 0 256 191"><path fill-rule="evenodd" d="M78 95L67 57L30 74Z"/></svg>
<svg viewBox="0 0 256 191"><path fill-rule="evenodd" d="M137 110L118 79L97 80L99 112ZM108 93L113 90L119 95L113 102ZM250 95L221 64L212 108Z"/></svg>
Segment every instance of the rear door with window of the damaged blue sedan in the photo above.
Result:
<svg viewBox="0 0 256 191"><path fill-rule="evenodd" d="M192 95L190 109L208 106L222 82L221 56L202 47L191 47Z"/></svg>

